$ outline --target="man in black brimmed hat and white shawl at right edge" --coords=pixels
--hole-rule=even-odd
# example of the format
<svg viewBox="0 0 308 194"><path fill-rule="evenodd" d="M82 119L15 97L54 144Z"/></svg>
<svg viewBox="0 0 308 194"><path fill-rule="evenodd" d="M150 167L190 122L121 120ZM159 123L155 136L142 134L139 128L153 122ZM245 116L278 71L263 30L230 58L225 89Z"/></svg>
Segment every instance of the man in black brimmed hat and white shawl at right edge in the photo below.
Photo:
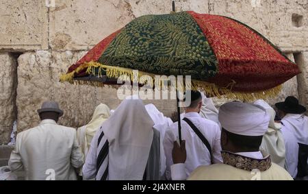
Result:
<svg viewBox="0 0 308 194"><path fill-rule="evenodd" d="M285 101L275 104L279 110L279 116L283 118L282 132L292 132L299 145L298 147L298 178L307 175L308 158L308 117L304 114L306 108L298 104L296 97L287 97Z"/></svg>

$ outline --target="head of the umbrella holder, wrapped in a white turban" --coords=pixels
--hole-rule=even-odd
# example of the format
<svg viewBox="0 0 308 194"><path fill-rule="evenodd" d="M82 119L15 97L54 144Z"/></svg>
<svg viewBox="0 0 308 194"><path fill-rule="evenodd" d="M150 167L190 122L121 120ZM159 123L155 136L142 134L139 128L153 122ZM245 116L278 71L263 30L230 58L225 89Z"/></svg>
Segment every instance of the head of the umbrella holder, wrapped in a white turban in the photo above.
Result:
<svg viewBox="0 0 308 194"><path fill-rule="evenodd" d="M261 106L233 101L220 107L218 119L222 125L222 149L246 152L259 151L270 115Z"/></svg>

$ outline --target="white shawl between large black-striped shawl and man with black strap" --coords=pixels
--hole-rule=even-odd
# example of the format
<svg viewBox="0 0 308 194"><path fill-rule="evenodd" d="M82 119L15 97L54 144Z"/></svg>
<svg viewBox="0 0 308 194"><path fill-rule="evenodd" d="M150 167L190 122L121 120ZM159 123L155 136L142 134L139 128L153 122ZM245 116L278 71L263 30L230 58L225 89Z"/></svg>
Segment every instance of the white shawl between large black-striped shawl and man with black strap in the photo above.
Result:
<svg viewBox="0 0 308 194"><path fill-rule="evenodd" d="M164 137L166 134L166 130L168 129L169 125L172 125L173 122L170 118L164 117L162 112L159 112L157 108L153 104L147 104L145 106L146 111L149 113L151 119L154 121L155 125L153 128L159 131L160 133L160 169L159 175L162 177L166 171L166 156L164 151Z"/></svg>

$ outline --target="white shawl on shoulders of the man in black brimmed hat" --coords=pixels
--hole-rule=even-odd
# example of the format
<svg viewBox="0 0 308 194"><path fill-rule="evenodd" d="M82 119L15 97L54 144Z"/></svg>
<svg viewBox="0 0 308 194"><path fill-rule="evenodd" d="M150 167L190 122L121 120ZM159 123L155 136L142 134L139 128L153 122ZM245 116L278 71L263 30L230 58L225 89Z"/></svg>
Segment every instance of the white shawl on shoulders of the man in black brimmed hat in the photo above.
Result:
<svg viewBox="0 0 308 194"><path fill-rule="evenodd" d="M308 145L308 117L303 114L286 114L281 123L292 130L298 143Z"/></svg>

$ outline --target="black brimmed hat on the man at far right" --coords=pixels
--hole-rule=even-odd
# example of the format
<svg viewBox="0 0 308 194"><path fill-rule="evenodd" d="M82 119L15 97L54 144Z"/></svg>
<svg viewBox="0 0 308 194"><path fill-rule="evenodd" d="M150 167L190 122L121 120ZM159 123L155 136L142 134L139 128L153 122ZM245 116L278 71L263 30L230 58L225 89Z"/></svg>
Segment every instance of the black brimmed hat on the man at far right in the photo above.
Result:
<svg viewBox="0 0 308 194"><path fill-rule="evenodd" d="M292 96L287 97L285 101L275 104L275 106L279 110L283 110L283 112L290 114L302 114L306 112L305 106L298 104L298 99Z"/></svg>

